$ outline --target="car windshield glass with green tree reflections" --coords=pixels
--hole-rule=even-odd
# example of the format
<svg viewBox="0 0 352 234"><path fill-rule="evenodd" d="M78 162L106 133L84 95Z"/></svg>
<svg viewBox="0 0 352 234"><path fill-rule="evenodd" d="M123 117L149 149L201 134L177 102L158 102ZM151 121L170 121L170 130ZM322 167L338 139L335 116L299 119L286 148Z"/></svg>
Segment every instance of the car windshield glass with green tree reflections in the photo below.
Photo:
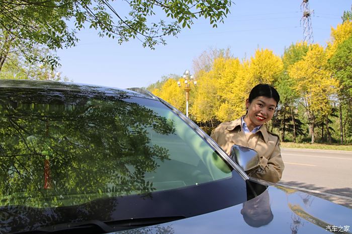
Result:
<svg viewBox="0 0 352 234"><path fill-rule="evenodd" d="M92 219L87 204L95 201L109 201L102 208L116 212L109 198L155 200L163 191L233 178L232 168L159 101L83 91L16 90L4 89L0 97L2 212L17 207L23 214L23 207L31 207L31 218L42 218L48 209L81 210L70 218L62 213L66 218L58 215L41 223L16 220L21 217L14 212L5 222L9 231L18 222L25 223L19 230L27 230Z"/></svg>

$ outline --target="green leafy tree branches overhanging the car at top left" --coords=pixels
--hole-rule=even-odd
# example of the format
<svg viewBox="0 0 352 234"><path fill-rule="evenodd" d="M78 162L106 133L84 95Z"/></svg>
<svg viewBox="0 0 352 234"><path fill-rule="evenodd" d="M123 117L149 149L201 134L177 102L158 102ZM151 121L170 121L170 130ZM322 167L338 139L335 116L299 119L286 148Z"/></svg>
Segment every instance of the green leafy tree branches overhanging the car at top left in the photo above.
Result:
<svg viewBox="0 0 352 234"><path fill-rule="evenodd" d="M119 5L114 0L0 0L0 30L6 43L23 52L36 45L45 45L49 50L74 46L77 31L84 27L97 30L101 37L117 39L120 44L133 38L154 49L157 44L165 44L165 37L190 28L198 18L209 19L217 27L229 14L231 3L131 0ZM72 28L68 21L74 23ZM26 54L26 58L38 59L31 54ZM43 62L58 65L53 56L45 57Z"/></svg>

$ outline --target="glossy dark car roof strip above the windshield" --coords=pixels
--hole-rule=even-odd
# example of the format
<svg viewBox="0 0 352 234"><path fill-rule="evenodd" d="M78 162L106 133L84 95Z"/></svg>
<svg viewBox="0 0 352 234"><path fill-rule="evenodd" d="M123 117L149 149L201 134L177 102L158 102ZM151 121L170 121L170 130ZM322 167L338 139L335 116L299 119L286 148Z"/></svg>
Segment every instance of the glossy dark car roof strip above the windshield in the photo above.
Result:
<svg viewBox="0 0 352 234"><path fill-rule="evenodd" d="M1 88L30 88L30 89L55 89L55 90L75 90L85 92L100 92L106 94L128 95L149 99L156 99L153 94L142 88L121 89L93 84L82 84L73 82L59 82L52 80L16 80L0 79Z"/></svg>

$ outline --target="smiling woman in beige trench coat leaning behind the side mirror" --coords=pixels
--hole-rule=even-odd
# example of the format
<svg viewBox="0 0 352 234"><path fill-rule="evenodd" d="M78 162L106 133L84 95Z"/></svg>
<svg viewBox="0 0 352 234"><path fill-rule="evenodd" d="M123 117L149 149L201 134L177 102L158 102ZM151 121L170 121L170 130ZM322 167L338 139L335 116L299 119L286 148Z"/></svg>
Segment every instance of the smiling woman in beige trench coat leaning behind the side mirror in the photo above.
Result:
<svg viewBox="0 0 352 234"><path fill-rule="evenodd" d="M211 134L227 154L234 144L257 151L260 167L249 175L273 183L281 179L285 166L279 136L268 132L263 125L273 118L279 101L280 95L273 86L258 84L246 99L246 114L235 121L220 124Z"/></svg>

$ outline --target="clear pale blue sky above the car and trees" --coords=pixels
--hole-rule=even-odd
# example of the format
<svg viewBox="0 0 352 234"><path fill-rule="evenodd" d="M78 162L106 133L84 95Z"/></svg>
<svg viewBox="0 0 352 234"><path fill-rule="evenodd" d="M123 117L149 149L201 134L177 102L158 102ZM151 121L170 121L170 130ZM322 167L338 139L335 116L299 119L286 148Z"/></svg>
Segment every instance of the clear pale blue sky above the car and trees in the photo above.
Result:
<svg viewBox="0 0 352 234"><path fill-rule="evenodd" d="M209 48L230 48L233 56L249 58L257 48L282 55L285 47L303 40L300 20L302 1L233 1L224 24L212 28L208 20L198 20L191 29L167 37L167 45L155 50L131 40L122 45L100 38L96 31L83 30L76 47L58 51L60 72L79 83L128 88L146 87L168 74L182 75L191 70L193 60ZM350 11L347 0L310 0L314 10L314 42L326 45L331 27L341 23L343 11Z"/></svg>

